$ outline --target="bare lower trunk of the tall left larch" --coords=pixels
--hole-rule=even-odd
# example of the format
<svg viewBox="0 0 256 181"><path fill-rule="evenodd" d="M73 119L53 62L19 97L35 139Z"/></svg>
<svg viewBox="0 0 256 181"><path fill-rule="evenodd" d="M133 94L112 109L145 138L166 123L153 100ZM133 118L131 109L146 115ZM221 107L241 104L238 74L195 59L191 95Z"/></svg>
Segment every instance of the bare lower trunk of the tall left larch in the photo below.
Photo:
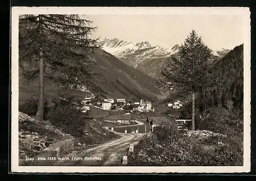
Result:
<svg viewBox="0 0 256 181"><path fill-rule="evenodd" d="M44 93L44 59L42 58L42 52L40 52L40 65L39 65L39 101L35 118L37 120L44 120L44 106L45 106L45 93Z"/></svg>

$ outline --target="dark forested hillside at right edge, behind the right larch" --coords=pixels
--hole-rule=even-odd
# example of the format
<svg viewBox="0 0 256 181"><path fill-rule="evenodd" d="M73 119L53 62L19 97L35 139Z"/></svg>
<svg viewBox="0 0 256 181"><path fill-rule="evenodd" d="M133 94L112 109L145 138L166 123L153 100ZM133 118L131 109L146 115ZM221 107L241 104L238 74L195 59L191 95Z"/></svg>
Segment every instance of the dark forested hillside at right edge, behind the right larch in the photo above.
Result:
<svg viewBox="0 0 256 181"><path fill-rule="evenodd" d="M223 73L221 76L223 76L227 88L224 92L219 92L216 95L196 94L197 113L204 113L210 108L219 109L220 106L223 107L223 111L225 108L243 110L243 44L234 47L225 57L216 61L212 68L218 69L220 74ZM221 90L221 87L217 89ZM191 101L182 112L183 116L190 114Z"/></svg>

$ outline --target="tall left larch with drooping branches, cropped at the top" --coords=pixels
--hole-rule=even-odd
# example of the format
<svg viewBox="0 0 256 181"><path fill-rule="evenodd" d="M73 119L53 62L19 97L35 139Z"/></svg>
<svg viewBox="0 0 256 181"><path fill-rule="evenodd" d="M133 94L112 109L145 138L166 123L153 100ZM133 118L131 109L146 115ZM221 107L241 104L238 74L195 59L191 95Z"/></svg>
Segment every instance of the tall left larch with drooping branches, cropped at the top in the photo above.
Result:
<svg viewBox="0 0 256 181"><path fill-rule="evenodd" d="M92 82L97 27L79 15L19 16L19 66L25 80L39 80L36 119L44 119L45 84L82 89ZM26 64L33 64L33 69Z"/></svg>

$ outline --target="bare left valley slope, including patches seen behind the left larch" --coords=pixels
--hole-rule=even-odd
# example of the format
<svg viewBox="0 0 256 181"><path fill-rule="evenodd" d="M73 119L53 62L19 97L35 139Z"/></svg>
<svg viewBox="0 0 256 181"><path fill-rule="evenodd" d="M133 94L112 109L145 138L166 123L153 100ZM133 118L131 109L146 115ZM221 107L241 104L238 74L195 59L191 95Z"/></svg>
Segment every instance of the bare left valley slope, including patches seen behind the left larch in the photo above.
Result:
<svg viewBox="0 0 256 181"><path fill-rule="evenodd" d="M91 93L100 92L106 97L122 97L130 100L161 98L160 90L155 87L156 81L152 77L127 66L102 49L96 50L93 59L96 60L97 64L94 71L101 73L101 75L96 77L90 88L85 88L83 91L66 90L64 92L67 95L84 97ZM35 67L33 64L26 64L25 66L29 69ZM47 84L45 87L46 98L57 97L59 90L56 85ZM38 92L38 81L27 83L23 80L22 69L19 69L19 99L38 97Z"/></svg>

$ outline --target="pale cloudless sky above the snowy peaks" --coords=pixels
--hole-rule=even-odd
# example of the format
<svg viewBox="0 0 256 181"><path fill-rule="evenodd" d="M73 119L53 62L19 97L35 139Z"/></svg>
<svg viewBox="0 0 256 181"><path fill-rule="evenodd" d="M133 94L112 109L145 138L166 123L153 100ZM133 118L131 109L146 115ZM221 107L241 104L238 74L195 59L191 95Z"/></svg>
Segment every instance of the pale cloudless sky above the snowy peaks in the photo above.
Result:
<svg viewBox="0 0 256 181"><path fill-rule="evenodd" d="M211 49L233 49L244 43L245 19L239 15L85 15L97 31L92 38L148 41L152 46L173 47L191 30Z"/></svg>

